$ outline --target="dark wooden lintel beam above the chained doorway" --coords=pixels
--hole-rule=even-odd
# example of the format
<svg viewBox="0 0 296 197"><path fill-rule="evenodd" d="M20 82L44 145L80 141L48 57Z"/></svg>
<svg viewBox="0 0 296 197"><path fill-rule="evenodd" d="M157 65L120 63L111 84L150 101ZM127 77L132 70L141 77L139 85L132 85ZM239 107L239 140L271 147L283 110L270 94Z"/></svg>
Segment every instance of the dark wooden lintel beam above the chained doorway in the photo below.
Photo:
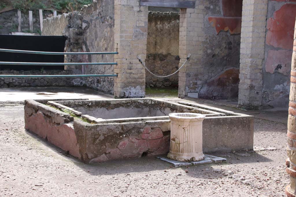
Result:
<svg viewBox="0 0 296 197"><path fill-rule="evenodd" d="M140 6L166 7L166 8L195 8L195 1L140 0Z"/></svg>

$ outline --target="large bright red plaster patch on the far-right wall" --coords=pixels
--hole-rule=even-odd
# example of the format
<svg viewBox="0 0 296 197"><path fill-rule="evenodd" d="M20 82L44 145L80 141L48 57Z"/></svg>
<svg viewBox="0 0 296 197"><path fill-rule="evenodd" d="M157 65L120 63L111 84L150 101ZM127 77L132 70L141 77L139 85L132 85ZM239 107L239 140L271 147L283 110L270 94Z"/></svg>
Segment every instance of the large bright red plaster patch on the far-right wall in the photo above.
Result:
<svg viewBox="0 0 296 197"><path fill-rule="evenodd" d="M296 4L284 4L267 20L266 44L283 49L293 49Z"/></svg>

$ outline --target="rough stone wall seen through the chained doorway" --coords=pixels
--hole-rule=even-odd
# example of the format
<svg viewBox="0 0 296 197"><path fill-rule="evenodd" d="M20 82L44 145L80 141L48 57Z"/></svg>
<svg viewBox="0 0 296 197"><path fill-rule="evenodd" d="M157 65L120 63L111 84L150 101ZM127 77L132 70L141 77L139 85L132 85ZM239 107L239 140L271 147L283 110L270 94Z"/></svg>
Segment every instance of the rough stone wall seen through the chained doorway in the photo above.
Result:
<svg viewBox="0 0 296 197"><path fill-rule="evenodd" d="M145 65L156 75L175 72L179 64L179 13L149 12ZM146 70L146 87L178 87L178 74L155 77Z"/></svg>

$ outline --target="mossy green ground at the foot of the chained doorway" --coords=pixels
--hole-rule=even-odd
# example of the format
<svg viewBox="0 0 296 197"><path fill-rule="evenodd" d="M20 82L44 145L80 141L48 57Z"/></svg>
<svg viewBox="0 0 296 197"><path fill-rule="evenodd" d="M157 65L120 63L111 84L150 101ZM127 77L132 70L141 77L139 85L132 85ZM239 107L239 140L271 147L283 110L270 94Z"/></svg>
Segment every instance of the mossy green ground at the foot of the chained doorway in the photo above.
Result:
<svg viewBox="0 0 296 197"><path fill-rule="evenodd" d="M178 97L178 88L169 87L147 87L146 97L157 97L157 98L172 98Z"/></svg>

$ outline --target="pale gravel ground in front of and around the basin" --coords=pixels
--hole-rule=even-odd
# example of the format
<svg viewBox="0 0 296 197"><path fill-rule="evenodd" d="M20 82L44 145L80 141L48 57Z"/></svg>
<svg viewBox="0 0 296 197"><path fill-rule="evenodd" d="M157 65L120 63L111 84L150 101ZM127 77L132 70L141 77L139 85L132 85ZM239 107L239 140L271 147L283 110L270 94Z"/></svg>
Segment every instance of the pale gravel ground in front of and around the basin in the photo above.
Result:
<svg viewBox="0 0 296 197"><path fill-rule="evenodd" d="M23 106L0 105L0 196L284 196L283 123L255 119L254 150L226 163L171 167L153 157L86 165L25 131ZM188 172L186 173L185 170Z"/></svg>

